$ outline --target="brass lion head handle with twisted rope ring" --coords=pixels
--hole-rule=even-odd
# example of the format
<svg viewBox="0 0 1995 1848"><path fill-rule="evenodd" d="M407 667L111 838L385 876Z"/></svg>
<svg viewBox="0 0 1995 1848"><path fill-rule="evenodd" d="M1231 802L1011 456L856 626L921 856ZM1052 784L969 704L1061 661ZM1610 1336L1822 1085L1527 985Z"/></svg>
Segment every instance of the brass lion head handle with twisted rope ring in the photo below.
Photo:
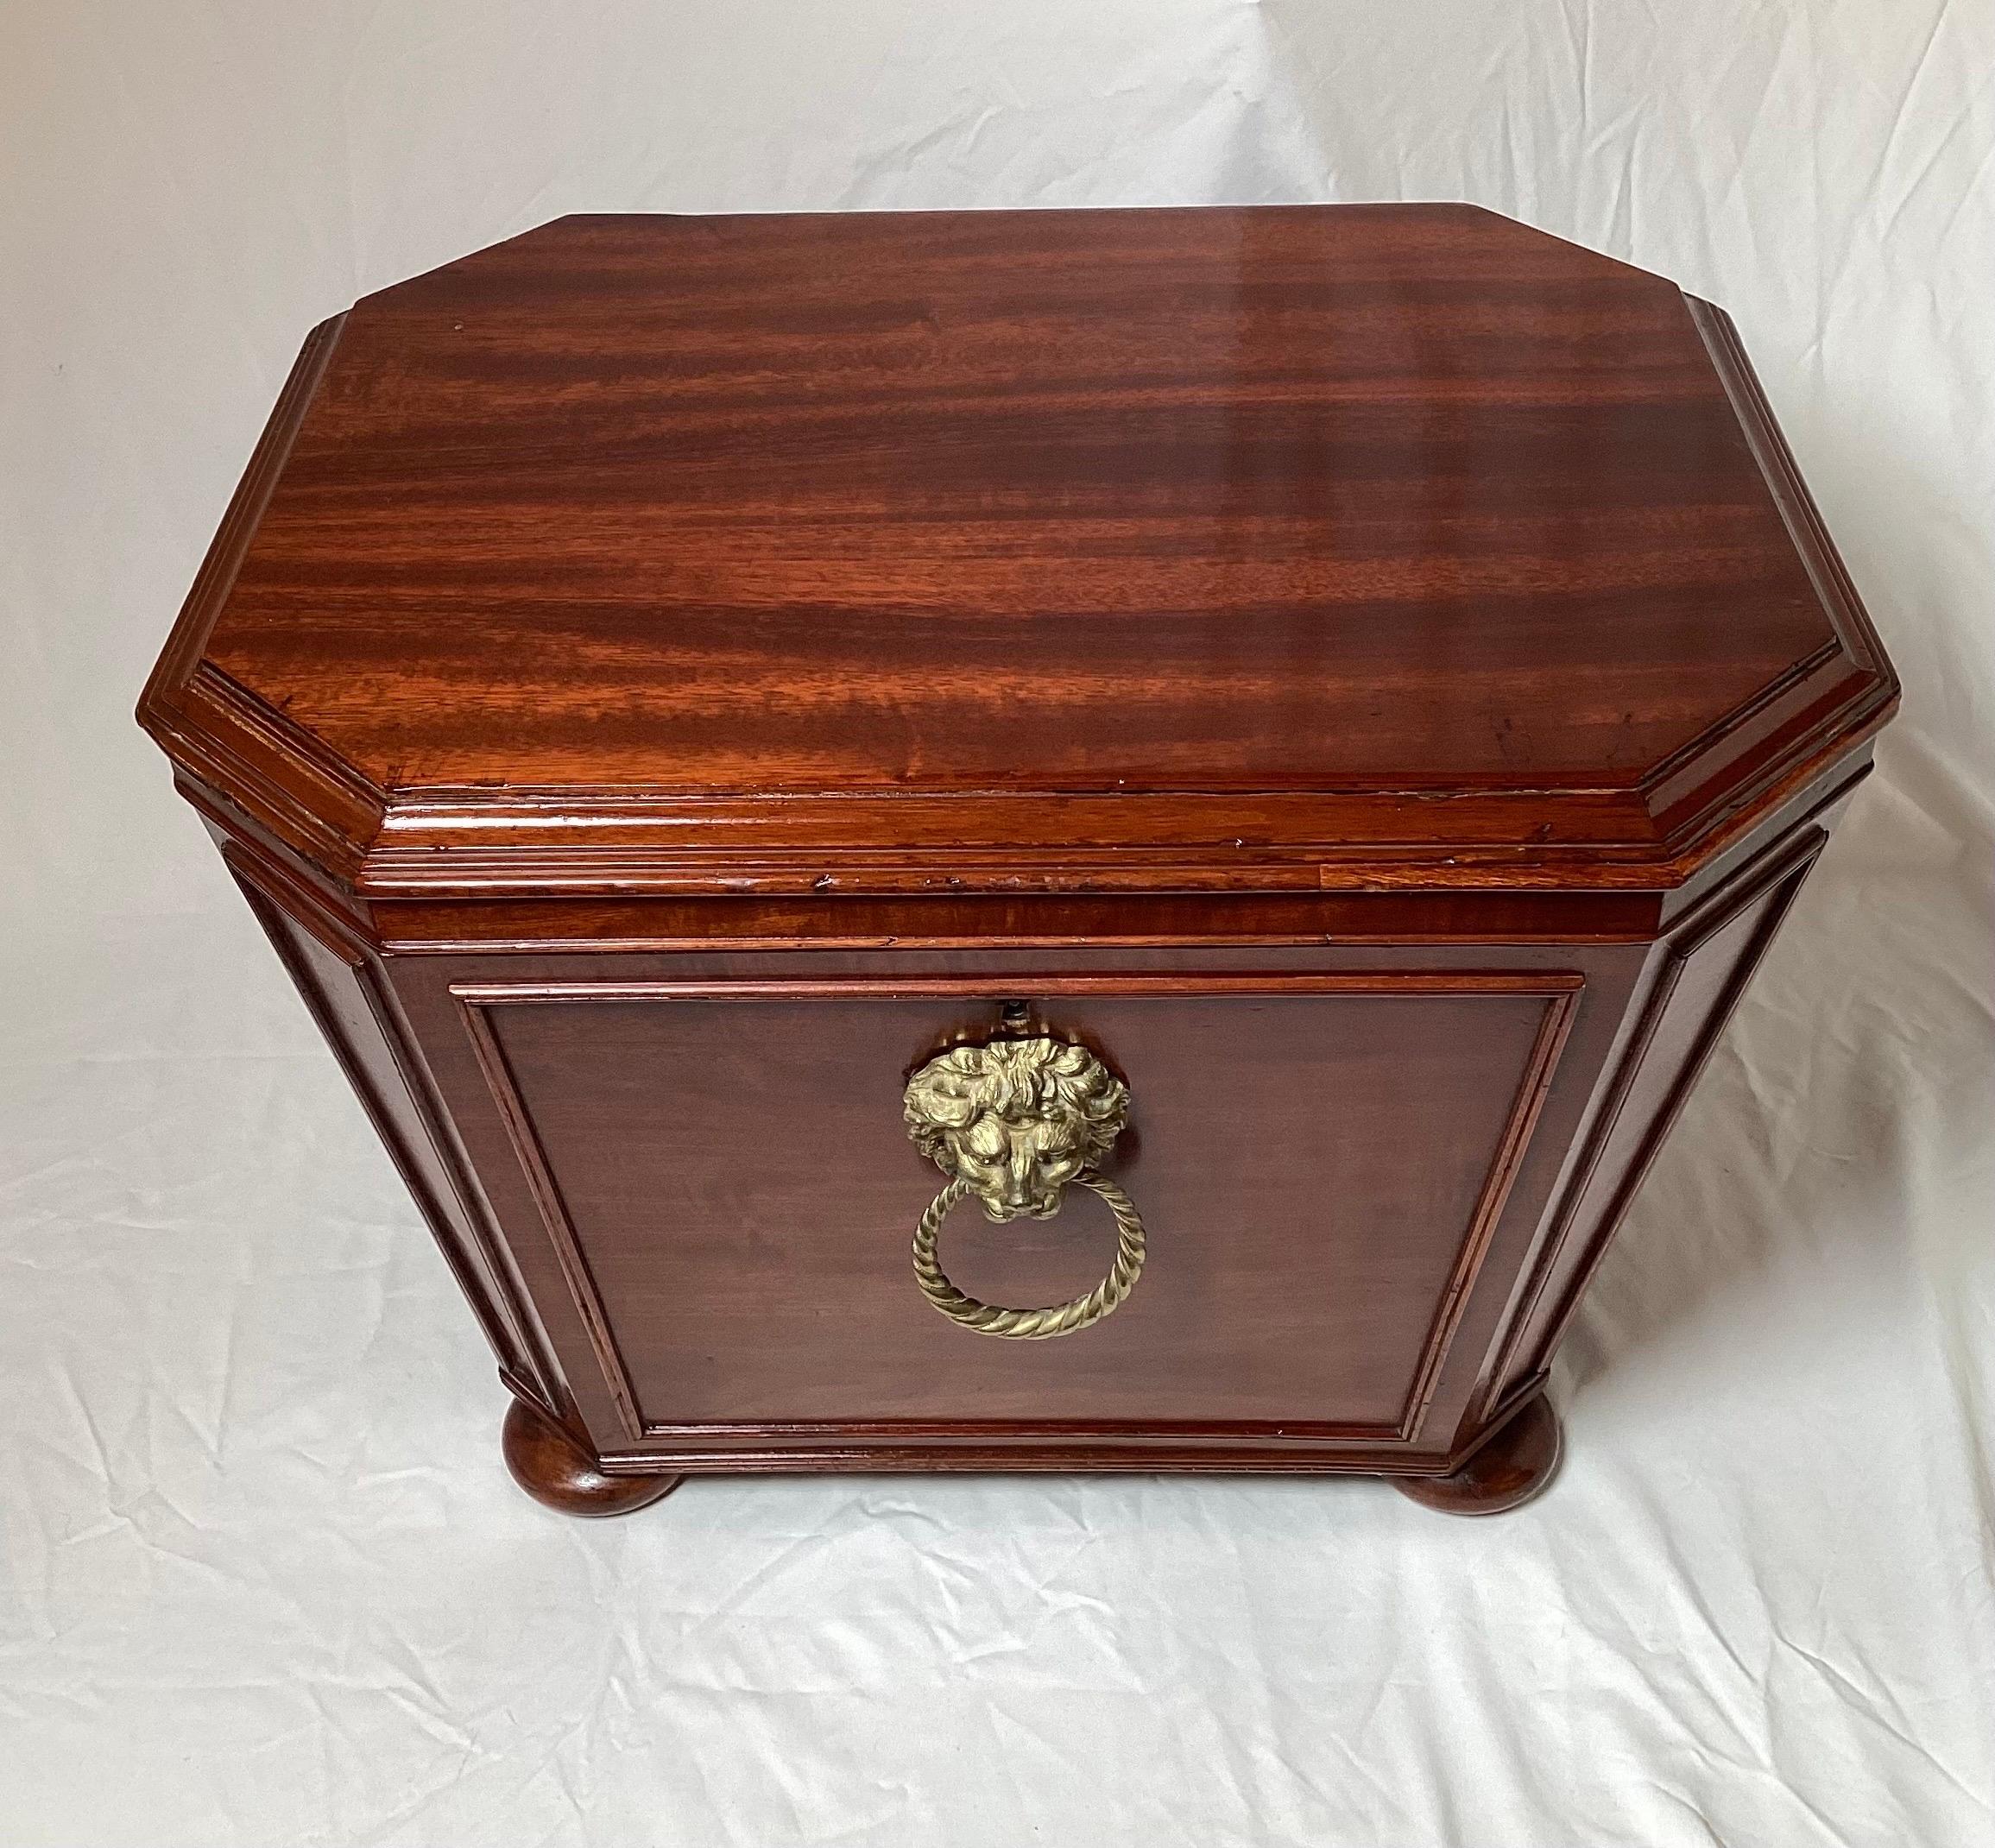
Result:
<svg viewBox="0 0 1995 1848"><path fill-rule="evenodd" d="M992 1040L938 1054L908 1080L908 1134L946 1175L914 1235L922 1293L982 1335L1037 1341L1109 1315L1143 1267L1143 1221L1129 1195L1093 1171L1129 1120L1129 1088L1085 1046L1051 1038ZM966 1297L942 1273L936 1241L950 1207L976 1197L990 1219L1051 1219L1069 1183L1115 1213L1115 1267L1083 1297L1003 1309Z"/></svg>

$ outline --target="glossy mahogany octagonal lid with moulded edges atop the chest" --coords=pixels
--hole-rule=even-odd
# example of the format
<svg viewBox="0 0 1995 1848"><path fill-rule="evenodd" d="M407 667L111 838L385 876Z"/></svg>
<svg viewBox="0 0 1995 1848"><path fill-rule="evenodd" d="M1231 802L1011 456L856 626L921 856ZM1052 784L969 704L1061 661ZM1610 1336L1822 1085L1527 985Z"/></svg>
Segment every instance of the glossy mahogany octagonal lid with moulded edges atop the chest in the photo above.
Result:
<svg viewBox="0 0 1995 1848"><path fill-rule="evenodd" d="M1682 862L1891 693L1724 315L1347 206L569 218L383 289L142 712L373 882L1528 884Z"/></svg>

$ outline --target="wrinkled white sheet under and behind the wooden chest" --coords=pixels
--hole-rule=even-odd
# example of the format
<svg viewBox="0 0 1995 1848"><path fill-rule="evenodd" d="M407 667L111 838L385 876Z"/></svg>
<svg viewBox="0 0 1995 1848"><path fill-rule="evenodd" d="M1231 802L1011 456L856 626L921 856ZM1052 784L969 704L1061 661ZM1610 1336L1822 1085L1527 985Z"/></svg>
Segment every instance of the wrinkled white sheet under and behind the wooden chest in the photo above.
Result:
<svg viewBox="0 0 1995 1848"><path fill-rule="evenodd" d="M0 1842L1995 1842L1987 0L0 6ZM1905 675L1506 1521L505 1481L130 704L303 331L567 210L1466 198L1726 303Z"/></svg>

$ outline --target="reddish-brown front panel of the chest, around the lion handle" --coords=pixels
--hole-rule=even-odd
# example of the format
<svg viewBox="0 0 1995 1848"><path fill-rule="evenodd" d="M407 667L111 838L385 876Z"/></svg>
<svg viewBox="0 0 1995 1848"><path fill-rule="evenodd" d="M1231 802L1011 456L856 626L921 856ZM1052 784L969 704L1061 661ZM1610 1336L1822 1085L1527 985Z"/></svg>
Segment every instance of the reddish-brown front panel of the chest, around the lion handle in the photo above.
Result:
<svg viewBox="0 0 1995 1848"><path fill-rule="evenodd" d="M551 1327L606 1455L999 1445L1051 1465L1450 1441L1422 1425L1498 1229L1516 1245L1542 1213L1556 1161L1526 1157L1586 990L1544 952L1490 960L744 976L597 956L549 980L425 958L419 986L507 1237L573 1309ZM902 1088L998 1034L1003 1004L1131 1092L1103 1167L1149 1259L1111 1317L1049 1341L946 1321L910 1265L942 1175ZM944 1225L950 1275L1017 1305L1085 1291L1113 1247L1081 1189L1047 1221L964 1203Z"/></svg>

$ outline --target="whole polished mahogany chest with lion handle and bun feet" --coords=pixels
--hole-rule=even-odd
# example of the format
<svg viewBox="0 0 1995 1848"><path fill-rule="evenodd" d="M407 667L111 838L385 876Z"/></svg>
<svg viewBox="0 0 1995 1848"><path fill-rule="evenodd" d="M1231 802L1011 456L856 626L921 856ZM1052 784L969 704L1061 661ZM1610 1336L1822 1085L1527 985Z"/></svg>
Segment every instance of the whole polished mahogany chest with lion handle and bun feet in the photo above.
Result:
<svg viewBox="0 0 1995 1848"><path fill-rule="evenodd" d="M1478 1511L1895 696L1724 313L1381 206L569 218L369 295L140 716L543 1501Z"/></svg>

